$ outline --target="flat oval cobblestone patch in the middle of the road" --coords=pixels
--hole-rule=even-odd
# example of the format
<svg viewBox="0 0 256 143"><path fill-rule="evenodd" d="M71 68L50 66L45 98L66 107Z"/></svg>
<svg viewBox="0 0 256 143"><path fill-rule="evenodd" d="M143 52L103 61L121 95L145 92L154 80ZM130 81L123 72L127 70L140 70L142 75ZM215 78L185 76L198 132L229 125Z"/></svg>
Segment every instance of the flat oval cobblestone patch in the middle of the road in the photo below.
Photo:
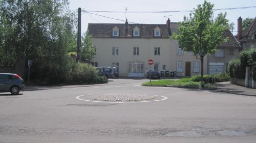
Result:
<svg viewBox="0 0 256 143"><path fill-rule="evenodd" d="M124 93L112 93L112 94L94 94L86 96L87 99L101 100L101 101L139 101L155 99L155 96L145 94L124 94Z"/></svg>

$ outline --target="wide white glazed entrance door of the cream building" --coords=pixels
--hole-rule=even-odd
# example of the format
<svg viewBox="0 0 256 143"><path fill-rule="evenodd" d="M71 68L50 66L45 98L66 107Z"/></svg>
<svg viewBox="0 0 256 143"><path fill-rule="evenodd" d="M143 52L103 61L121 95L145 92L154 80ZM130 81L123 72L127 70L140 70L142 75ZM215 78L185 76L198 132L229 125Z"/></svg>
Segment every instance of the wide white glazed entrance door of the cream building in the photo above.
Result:
<svg viewBox="0 0 256 143"><path fill-rule="evenodd" d="M129 64L129 77L143 77L144 70L143 70L143 63L130 63Z"/></svg>

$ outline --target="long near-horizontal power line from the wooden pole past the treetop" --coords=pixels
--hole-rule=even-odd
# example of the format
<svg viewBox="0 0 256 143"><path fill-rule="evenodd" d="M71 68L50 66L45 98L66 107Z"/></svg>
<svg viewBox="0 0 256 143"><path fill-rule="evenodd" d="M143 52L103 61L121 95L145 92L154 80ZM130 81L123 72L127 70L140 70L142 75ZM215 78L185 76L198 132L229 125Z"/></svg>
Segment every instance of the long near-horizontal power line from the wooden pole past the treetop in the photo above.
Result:
<svg viewBox="0 0 256 143"><path fill-rule="evenodd" d="M251 9L256 8L256 6L251 7L237 7L237 8L223 8L223 9L212 9L214 11L220 10L238 10L238 9ZM195 10L178 10L178 11L96 11L96 10L83 10L83 12L104 12L104 13L172 13L172 12L191 12Z"/></svg>

